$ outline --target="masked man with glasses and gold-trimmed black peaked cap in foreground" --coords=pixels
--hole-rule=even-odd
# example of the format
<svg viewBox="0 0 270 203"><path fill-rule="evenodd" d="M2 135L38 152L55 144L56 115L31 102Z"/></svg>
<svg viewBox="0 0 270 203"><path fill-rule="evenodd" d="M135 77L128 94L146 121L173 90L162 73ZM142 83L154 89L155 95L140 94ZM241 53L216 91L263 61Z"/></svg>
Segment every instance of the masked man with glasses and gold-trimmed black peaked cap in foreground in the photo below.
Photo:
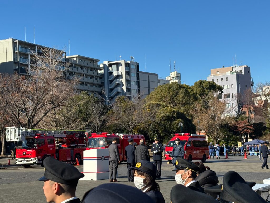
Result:
<svg viewBox="0 0 270 203"><path fill-rule="evenodd" d="M204 189L200 186L200 183L195 180L199 170L200 168L191 161L178 157L175 162L175 169L173 169L173 171L176 171L176 183L204 193Z"/></svg>

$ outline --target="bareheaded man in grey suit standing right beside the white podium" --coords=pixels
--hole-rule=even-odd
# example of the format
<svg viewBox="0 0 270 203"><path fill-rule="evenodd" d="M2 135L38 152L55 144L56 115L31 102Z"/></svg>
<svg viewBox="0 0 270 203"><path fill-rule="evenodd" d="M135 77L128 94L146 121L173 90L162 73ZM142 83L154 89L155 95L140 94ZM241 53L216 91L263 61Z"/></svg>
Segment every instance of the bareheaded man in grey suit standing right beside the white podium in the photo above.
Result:
<svg viewBox="0 0 270 203"><path fill-rule="evenodd" d="M118 146L116 145L116 137L113 138L112 144L109 146L109 161L110 161L110 182L119 182L116 180L116 171L120 161Z"/></svg>

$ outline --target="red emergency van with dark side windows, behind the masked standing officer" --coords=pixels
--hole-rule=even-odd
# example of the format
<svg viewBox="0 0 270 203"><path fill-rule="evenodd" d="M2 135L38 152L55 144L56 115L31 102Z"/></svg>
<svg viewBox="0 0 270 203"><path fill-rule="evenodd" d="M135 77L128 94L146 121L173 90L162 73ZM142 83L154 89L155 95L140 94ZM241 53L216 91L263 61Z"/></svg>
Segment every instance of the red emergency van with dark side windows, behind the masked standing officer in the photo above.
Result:
<svg viewBox="0 0 270 203"><path fill-rule="evenodd" d="M184 158L189 161L201 160L205 162L209 156L208 145L204 135L193 135L190 133L176 133L174 137L167 143L165 148L165 160L171 163L171 152L175 145L175 139L180 139L180 144L184 146Z"/></svg>

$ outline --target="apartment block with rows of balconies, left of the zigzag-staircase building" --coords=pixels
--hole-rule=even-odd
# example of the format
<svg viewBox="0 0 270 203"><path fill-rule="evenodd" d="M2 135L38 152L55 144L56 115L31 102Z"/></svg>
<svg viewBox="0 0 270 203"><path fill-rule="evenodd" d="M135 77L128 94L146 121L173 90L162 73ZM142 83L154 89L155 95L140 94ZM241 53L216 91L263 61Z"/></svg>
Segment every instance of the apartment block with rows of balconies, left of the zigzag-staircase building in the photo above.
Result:
<svg viewBox="0 0 270 203"><path fill-rule="evenodd" d="M80 78L77 90L87 91L89 94L99 95L101 92L100 66L99 61L81 55L71 55L66 57L68 62L68 79Z"/></svg>

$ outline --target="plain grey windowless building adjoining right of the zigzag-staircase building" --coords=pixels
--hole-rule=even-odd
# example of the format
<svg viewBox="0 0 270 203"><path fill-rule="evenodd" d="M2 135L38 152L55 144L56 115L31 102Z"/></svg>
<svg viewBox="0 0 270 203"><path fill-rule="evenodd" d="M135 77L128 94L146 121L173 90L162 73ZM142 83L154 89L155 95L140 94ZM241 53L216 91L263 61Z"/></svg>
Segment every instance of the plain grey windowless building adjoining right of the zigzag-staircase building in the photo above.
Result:
<svg viewBox="0 0 270 203"><path fill-rule="evenodd" d="M145 98L158 86L158 75L140 71L140 95Z"/></svg>

